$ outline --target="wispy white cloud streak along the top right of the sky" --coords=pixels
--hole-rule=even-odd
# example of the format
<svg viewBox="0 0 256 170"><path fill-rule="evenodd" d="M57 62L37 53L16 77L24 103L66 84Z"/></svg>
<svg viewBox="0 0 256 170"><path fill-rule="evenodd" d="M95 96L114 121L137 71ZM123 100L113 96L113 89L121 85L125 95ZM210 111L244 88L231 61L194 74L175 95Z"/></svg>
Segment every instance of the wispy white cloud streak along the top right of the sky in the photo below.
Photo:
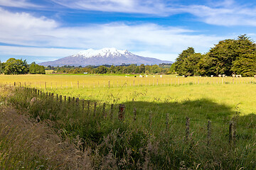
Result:
<svg viewBox="0 0 256 170"><path fill-rule="evenodd" d="M256 26L255 6L238 4L234 0L208 1L207 4L183 5L163 0L52 0L68 8L89 11L121 13L145 13L170 16L177 13L191 13L202 21L217 26Z"/></svg>

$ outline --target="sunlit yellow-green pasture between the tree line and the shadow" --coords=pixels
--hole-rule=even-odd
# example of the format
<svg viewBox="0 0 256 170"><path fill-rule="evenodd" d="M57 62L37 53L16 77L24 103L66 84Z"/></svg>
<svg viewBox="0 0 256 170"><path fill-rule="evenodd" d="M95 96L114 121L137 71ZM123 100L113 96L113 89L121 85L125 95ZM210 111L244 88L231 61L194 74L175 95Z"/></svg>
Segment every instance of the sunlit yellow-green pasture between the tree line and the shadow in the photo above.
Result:
<svg viewBox="0 0 256 170"><path fill-rule="evenodd" d="M0 77L1 84L28 86L85 100L122 103L208 99L231 108L239 105L241 115L256 113L256 79L252 77L176 77L175 75L18 75Z"/></svg>

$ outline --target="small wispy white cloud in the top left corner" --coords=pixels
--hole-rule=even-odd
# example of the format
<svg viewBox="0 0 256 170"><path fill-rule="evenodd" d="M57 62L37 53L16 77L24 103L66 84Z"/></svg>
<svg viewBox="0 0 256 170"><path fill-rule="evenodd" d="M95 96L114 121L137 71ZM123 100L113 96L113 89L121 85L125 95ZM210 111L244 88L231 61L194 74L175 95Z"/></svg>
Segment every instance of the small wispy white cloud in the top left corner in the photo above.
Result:
<svg viewBox="0 0 256 170"><path fill-rule="evenodd" d="M29 3L26 0L0 0L0 6L11 6L20 8L39 7L35 4Z"/></svg>

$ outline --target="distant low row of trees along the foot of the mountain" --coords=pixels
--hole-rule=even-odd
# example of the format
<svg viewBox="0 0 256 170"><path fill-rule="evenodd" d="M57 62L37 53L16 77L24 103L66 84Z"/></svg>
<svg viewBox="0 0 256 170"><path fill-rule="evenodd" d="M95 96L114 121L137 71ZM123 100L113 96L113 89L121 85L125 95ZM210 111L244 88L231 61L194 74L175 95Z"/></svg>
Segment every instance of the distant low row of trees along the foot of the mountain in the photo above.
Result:
<svg viewBox="0 0 256 170"><path fill-rule="evenodd" d="M68 73L68 74L82 74L87 72L88 74L169 74L168 64L162 64L165 67L159 67L159 65L145 65L141 64L137 66L136 64L122 65L122 66L108 66L102 65L100 67L51 67L48 68L55 69L57 73Z"/></svg>

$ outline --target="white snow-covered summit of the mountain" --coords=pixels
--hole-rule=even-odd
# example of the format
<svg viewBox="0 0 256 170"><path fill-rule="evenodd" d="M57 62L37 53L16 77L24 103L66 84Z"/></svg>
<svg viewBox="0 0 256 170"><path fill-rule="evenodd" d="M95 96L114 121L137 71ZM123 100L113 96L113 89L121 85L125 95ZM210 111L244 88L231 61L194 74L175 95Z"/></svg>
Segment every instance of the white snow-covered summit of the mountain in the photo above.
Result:
<svg viewBox="0 0 256 170"><path fill-rule="evenodd" d="M102 48L100 50L93 50L88 49L81 52L78 52L76 55L72 55L71 57L83 57L83 58L90 58L90 57L122 57L122 56L129 56L133 55L131 52L127 50L117 50L116 48Z"/></svg>

